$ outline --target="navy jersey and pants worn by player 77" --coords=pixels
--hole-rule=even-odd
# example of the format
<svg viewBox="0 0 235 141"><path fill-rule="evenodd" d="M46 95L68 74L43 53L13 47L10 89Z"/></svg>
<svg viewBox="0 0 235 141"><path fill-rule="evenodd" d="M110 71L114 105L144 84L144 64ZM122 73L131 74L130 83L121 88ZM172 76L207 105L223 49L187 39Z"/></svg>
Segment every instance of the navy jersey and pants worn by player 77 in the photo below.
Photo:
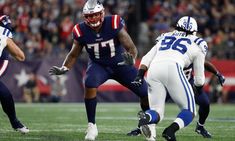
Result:
<svg viewBox="0 0 235 141"><path fill-rule="evenodd" d="M85 86L98 88L106 80L114 79L139 97L145 97L146 82L141 87L131 84L137 69L134 66L118 65L123 61L122 53L125 51L118 40L118 33L124 26L124 20L118 15L105 17L99 33L84 22L74 26L73 38L85 47L89 55Z"/></svg>

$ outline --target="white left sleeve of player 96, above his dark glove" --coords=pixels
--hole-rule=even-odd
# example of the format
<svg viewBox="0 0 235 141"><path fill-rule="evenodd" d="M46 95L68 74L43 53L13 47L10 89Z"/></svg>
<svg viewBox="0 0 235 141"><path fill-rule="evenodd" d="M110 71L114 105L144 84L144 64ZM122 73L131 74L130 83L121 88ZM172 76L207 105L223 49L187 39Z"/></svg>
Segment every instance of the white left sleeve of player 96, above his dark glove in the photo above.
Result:
<svg viewBox="0 0 235 141"><path fill-rule="evenodd" d="M155 45L141 60L140 64L145 65L149 68L150 63L152 62L154 56L157 53L157 45Z"/></svg>

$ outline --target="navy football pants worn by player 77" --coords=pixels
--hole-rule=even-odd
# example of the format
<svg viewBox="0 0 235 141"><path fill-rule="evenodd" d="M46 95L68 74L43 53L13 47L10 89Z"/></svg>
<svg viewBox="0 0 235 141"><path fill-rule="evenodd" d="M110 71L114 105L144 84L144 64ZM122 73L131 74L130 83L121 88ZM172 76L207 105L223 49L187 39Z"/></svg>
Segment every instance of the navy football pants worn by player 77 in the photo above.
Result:
<svg viewBox="0 0 235 141"><path fill-rule="evenodd" d="M86 71L85 86L87 88L98 88L108 79L114 79L130 89L138 97L146 97L148 95L146 81L140 87L136 87L131 83L136 76L137 69L134 66L123 65L110 67L90 62Z"/></svg>

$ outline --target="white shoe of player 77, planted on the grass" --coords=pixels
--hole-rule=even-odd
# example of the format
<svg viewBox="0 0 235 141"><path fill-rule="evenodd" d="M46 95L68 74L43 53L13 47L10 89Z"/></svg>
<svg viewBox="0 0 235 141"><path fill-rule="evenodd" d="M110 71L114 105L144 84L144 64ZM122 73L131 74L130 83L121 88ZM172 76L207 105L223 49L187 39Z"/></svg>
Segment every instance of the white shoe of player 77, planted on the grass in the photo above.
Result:
<svg viewBox="0 0 235 141"><path fill-rule="evenodd" d="M96 124L89 122L86 130L85 140L94 141L97 136L98 136L98 129Z"/></svg>

